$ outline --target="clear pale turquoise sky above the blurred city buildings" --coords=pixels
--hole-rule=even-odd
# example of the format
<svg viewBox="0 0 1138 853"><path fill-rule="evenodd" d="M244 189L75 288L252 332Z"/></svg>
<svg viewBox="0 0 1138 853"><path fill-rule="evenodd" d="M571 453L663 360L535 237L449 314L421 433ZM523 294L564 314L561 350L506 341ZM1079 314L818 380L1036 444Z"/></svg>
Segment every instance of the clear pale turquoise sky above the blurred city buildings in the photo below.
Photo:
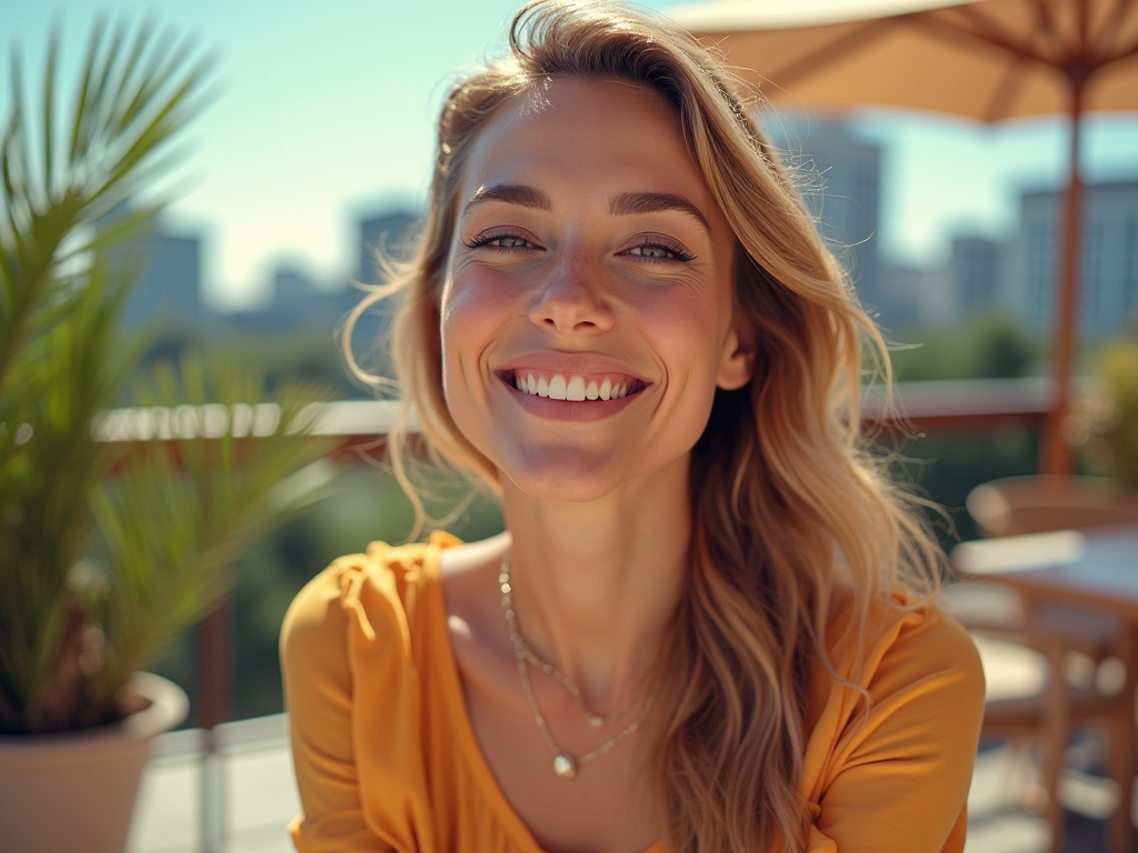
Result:
<svg viewBox="0 0 1138 853"><path fill-rule="evenodd" d="M6 115L11 45L38 82L52 19L64 24L65 83L100 11L152 13L216 50L218 96L190 134L187 191L171 221L205 238L209 297L248 304L266 292L275 264L349 275L358 215L420 204L446 83L500 51L519 2L0 0L0 108ZM879 239L892 262L930 266L956 233L1006 233L1016 193L1065 174L1058 119L984 127L879 110L852 121L884 149ZM1091 179L1138 177L1138 115L1092 118L1085 146Z"/></svg>

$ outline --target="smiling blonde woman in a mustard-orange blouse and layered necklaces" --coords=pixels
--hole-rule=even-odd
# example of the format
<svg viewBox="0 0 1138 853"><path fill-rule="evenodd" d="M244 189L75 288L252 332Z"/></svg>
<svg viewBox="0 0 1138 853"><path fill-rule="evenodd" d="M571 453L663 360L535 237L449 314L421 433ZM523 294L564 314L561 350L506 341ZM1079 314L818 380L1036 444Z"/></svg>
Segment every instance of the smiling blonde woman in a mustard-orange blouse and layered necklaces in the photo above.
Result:
<svg viewBox="0 0 1138 853"><path fill-rule="evenodd" d="M345 336L401 295L401 423L508 529L297 597L297 848L960 851L979 661L858 433L881 337L743 90L622 6L531 3L511 48Z"/></svg>

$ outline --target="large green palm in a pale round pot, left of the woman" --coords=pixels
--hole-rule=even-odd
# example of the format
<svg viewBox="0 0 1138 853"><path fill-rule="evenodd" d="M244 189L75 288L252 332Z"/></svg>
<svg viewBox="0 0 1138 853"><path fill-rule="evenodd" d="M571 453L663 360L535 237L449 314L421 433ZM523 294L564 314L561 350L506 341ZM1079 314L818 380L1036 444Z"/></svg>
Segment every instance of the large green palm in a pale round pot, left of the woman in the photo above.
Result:
<svg viewBox="0 0 1138 853"><path fill-rule="evenodd" d="M319 494L322 396L265 401L198 358L138 379L125 247L209 64L97 27L60 124L58 53L53 35L34 134L16 66L0 142L0 846L121 853L150 739L187 711L143 670L221 603L242 544Z"/></svg>

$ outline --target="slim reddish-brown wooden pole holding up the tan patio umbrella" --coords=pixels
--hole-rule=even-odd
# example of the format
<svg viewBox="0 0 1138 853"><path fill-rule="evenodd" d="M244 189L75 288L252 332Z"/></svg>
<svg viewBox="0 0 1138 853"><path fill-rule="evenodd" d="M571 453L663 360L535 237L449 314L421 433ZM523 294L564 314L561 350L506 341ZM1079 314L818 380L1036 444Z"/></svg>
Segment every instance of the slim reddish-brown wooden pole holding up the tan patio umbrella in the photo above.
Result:
<svg viewBox="0 0 1138 853"><path fill-rule="evenodd" d="M1063 257L1055 312L1054 376L1055 397L1044 426L1039 458L1042 474L1066 477L1072 473L1071 449L1063 441L1063 421L1071 406L1071 368L1074 361L1079 309L1079 260L1082 232L1082 179L1079 173L1079 140L1082 125L1082 96L1086 78L1071 77L1071 164L1063 229Z"/></svg>

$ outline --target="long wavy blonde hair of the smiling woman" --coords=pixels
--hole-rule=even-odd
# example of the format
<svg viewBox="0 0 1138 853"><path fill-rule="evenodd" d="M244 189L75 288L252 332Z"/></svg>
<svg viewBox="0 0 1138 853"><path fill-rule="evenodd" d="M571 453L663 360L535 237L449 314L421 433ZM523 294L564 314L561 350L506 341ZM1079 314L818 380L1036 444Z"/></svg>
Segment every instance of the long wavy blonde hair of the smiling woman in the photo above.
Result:
<svg viewBox="0 0 1138 853"><path fill-rule="evenodd" d="M460 81L439 118L430 208L411 259L348 318L399 296L393 364L402 408L389 437L397 477L412 413L434 454L497 487L443 398L439 298L463 166L480 129L543 77L618 77L661 93L734 230L736 316L757 330L754 378L716 392L693 449L690 594L665 649L671 690L657 754L670 848L806 846L795 785L806 673L824 646L831 590L853 589L860 643L875 603L925 596L939 550L859 428L863 367L891 381L885 345L819 239L793 182L744 108L747 90L670 22L624 6L538 0L510 30L511 53ZM417 503L421 517L421 504ZM850 687L857 689L853 685Z"/></svg>

